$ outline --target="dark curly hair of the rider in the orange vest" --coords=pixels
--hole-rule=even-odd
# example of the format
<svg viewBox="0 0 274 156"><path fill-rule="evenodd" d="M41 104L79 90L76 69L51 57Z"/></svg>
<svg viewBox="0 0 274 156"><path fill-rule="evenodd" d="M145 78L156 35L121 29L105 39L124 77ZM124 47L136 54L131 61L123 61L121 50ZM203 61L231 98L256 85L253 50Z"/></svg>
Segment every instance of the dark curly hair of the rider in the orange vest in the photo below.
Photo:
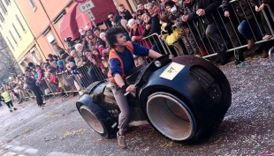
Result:
<svg viewBox="0 0 274 156"><path fill-rule="evenodd" d="M111 27L106 33L105 33L105 38L108 41L110 48L115 48L114 43L117 42L117 37L116 35L118 33L124 33L124 29L122 26L116 26L116 27Z"/></svg>

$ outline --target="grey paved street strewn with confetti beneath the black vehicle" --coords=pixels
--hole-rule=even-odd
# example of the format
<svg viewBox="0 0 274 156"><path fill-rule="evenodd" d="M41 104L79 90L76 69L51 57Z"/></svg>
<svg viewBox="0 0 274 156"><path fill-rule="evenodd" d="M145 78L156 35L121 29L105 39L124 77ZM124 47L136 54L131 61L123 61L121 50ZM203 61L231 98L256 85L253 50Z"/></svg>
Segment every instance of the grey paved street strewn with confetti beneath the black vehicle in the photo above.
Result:
<svg viewBox="0 0 274 156"><path fill-rule="evenodd" d="M75 108L78 97L48 100L44 109L31 102L0 108L1 156L84 155L274 155L274 72L269 60L221 67L232 85L232 107L220 128L193 145L173 143L149 125L134 128L127 150L116 138L102 139Z"/></svg>

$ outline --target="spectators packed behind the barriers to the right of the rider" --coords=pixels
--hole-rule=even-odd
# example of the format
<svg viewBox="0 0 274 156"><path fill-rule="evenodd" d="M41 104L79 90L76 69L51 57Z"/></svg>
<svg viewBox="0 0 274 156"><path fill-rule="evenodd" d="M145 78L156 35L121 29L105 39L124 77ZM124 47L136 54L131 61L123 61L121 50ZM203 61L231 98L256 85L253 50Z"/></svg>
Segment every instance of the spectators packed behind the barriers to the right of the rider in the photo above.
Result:
<svg viewBox="0 0 274 156"><path fill-rule="evenodd" d="M247 48L236 51L241 62L259 47L263 50L262 57L268 57L268 43L255 45L255 41L273 37L263 16L266 4L273 10L274 2L269 0L232 3L230 0L161 0L138 4L137 11L131 13L120 4L119 14L110 12L108 19L111 26L124 27L128 41L163 53L156 36L143 40L156 33L174 56L206 56L216 52L220 64L225 64L228 63L225 51L245 44Z"/></svg>

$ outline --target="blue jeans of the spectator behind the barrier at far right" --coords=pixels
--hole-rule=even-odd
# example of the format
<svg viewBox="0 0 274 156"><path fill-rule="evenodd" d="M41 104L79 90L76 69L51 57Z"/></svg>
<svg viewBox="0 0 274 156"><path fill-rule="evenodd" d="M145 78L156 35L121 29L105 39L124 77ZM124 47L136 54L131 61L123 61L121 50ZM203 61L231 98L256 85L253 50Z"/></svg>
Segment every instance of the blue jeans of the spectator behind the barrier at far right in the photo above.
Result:
<svg viewBox="0 0 274 156"><path fill-rule="evenodd" d="M252 31L249 25L252 27ZM263 35L260 32L260 28L255 20L243 20L238 26L238 30L240 34L247 39L247 41L254 39L253 33L255 34L256 41L262 41L263 39ZM261 43L261 47L263 48L263 50L268 50L267 45L265 43Z"/></svg>

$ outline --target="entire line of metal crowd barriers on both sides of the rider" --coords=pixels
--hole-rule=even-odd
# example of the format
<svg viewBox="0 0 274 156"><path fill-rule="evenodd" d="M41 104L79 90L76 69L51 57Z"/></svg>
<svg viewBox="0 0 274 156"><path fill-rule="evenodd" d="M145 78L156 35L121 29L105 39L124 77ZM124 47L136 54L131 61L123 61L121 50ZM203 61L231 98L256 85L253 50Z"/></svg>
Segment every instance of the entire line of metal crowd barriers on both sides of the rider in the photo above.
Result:
<svg viewBox="0 0 274 156"><path fill-rule="evenodd" d="M238 1L232 0L231 3L231 16L225 20L222 16L224 11L222 11L221 7L217 9L217 12L214 15L210 15L213 19L213 22L217 25L217 31L221 37L223 42L227 41L228 44L226 46L226 52L237 50L242 50L242 48L247 48L247 40L239 33L238 26L242 22L238 17L236 8L233 3ZM263 29L260 25L260 20L255 16L254 8L248 2L248 8L252 11L252 15L255 17L255 25L259 27L260 35L263 37ZM243 6L240 5L240 8L243 10ZM273 32L273 23L274 23L274 15L269 5L267 5L263 9L263 15L267 22L267 25L270 28L270 32L274 35ZM244 15L247 18L247 12L243 11ZM217 19L221 19L221 21L217 21ZM153 33L148 37L144 37L140 41L136 41L144 47L152 48L157 52L163 55L173 55L173 56L181 56L181 55L201 55L203 58L208 58L211 56L217 56L218 51L220 50L220 45L217 44L216 41L213 41L209 38L209 35L206 34L209 19L206 16L198 17L193 21L186 22L186 26L176 26L174 28L179 29L179 38L178 41L174 41L172 44L167 44L163 41L159 34ZM247 20L248 26L251 26L250 21ZM200 31L199 31L200 30ZM254 36L255 44L262 44L269 41L273 41L274 37L270 40L262 41L263 39L258 39L255 37L255 30L253 28L250 29L251 33ZM270 48L269 55L270 60L274 62L272 59L271 53L274 51L274 48ZM151 60L149 58L141 58L134 57L136 66L141 65L143 63L149 63ZM68 94L68 93L78 93L83 91L88 85L91 85L95 81L102 81L107 78L107 71L105 69L103 72L102 69L93 63L85 64L84 66L78 67L76 70L57 73L57 84L49 83L47 79L43 79L42 83L39 85L42 93L47 95L56 96L57 94ZM30 94L30 93L28 93ZM25 95L24 95L25 96ZM27 95L26 95L27 96Z"/></svg>

